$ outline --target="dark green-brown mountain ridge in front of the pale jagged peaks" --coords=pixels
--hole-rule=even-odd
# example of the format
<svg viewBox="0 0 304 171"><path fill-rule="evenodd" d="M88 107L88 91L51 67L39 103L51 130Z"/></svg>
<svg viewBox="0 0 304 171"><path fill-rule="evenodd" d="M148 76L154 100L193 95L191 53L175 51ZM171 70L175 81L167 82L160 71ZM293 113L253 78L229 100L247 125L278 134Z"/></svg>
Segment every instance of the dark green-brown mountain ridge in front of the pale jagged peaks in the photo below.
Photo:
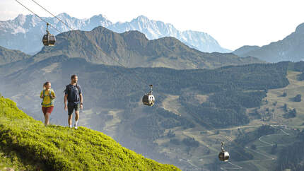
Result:
<svg viewBox="0 0 304 171"><path fill-rule="evenodd" d="M43 47L35 61L64 54L95 64L126 67L168 67L173 69L213 69L227 65L261 63L254 57L206 53L192 49L175 37L148 40L139 31L115 33L99 26L91 31L69 31L57 35L56 46Z"/></svg>

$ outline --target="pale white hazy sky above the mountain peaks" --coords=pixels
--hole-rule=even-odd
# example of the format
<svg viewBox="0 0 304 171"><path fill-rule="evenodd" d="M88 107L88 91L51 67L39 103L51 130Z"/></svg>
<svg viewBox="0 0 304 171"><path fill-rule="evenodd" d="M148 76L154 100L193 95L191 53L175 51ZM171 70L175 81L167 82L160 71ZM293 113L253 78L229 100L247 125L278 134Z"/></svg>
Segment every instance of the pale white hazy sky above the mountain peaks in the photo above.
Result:
<svg viewBox="0 0 304 171"><path fill-rule="evenodd" d="M50 16L31 0L19 0L40 16ZM178 30L209 33L228 49L282 40L304 23L303 0L35 0L55 15L76 18L103 14L113 23L144 15ZM15 0L0 0L0 20L29 14Z"/></svg>

